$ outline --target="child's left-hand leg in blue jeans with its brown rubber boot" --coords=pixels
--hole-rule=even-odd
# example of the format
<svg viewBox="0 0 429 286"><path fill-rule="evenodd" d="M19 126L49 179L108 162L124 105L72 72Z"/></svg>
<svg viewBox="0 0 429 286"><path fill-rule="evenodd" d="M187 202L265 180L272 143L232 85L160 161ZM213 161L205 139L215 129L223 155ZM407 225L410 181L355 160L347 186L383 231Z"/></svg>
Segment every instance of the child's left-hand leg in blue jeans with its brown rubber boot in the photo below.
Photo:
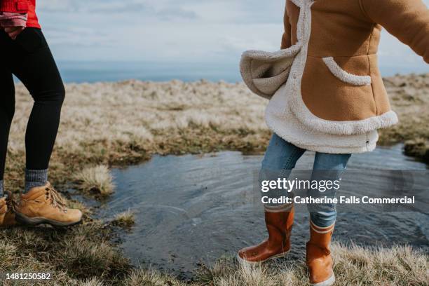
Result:
<svg viewBox="0 0 429 286"><path fill-rule="evenodd" d="M264 180L287 178L292 168L305 150L300 149L278 135L273 135L262 161L259 172L259 183ZM270 190L263 196L280 198L284 191ZM287 193L286 193L287 195ZM292 204L266 204L265 224L268 239L259 245L246 247L237 254L238 261L246 263L260 263L268 259L284 256L290 250L290 234L294 222L294 208Z"/></svg>

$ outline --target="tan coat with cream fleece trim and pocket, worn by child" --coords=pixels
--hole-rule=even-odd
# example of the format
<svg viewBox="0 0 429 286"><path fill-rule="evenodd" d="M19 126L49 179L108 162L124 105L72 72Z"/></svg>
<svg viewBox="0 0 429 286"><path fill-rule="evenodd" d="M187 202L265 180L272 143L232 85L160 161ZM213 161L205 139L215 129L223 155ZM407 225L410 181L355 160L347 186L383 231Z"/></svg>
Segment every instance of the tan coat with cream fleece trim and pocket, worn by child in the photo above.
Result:
<svg viewBox="0 0 429 286"><path fill-rule="evenodd" d="M377 64L382 27L429 62L429 11L421 0L286 1L282 48L300 51L285 94L301 123L333 135L397 123Z"/></svg>

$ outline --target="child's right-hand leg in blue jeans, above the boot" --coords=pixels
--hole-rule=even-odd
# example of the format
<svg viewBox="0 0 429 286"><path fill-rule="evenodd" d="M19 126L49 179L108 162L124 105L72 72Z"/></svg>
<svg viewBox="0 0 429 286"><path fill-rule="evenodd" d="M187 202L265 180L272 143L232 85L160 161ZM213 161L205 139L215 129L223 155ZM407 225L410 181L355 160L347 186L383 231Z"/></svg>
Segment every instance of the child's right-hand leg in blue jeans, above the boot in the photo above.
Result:
<svg viewBox="0 0 429 286"><path fill-rule="evenodd" d="M351 154L325 154L316 153L313 165L313 175L311 180L317 181L336 181L341 178ZM324 197L334 198L336 189L309 189L308 196L313 198ZM332 226L336 219L336 210L334 204L310 205L310 217L313 224L319 227Z"/></svg>

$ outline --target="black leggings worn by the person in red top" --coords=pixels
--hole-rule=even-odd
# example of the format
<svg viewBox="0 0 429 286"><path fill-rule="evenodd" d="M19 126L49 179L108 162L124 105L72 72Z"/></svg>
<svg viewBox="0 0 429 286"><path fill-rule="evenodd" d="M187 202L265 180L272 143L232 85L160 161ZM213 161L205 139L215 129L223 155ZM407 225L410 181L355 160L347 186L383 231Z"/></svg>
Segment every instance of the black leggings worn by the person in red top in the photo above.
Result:
<svg viewBox="0 0 429 286"><path fill-rule="evenodd" d="M15 113L13 74L34 100L25 134L26 168L48 168L60 113L64 85L40 29L27 28L15 40L0 30L0 180L4 177L8 136Z"/></svg>

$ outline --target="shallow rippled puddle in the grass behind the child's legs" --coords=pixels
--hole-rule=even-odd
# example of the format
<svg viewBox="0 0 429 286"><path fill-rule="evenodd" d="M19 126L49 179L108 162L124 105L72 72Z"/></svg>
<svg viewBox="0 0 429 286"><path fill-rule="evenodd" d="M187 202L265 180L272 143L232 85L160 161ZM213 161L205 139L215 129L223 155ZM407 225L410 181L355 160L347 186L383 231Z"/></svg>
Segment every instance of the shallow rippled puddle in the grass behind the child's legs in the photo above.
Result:
<svg viewBox="0 0 429 286"><path fill-rule="evenodd" d="M261 156L221 152L204 156L154 156L142 165L113 170L116 192L100 207L111 219L135 213L135 226L121 233L121 247L135 264L191 277L198 263L259 243L266 236L259 193L253 189ZM313 165L313 152L297 169ZM348 169L427 170L402 155L401 147L354 155ZM256 198L256 199L254 199ZM429 249L428 214L421 212L339 213L334 239L365 245L413 245ZM290 257L303 257L308 213L297 212Z"/></svg>

